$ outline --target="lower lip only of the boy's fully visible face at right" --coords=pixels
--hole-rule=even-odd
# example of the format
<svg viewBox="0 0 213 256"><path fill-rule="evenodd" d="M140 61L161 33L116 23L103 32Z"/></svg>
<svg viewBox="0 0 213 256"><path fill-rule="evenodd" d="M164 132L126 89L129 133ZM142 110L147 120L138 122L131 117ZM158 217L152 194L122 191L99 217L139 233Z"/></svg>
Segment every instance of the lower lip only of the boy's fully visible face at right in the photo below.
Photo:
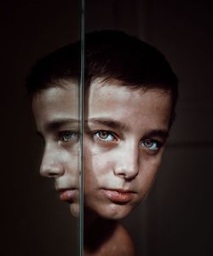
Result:
<svg viewBox="0 0 213 256"><path fill-rule="evenodd" d="M115 203L128 203L129 201L132 200L134 196L133 193L131 192L120 192L117 190L107 190L107 189L103 189L102 191L105 195L107 195L107 197L111 201Z"/></svg>

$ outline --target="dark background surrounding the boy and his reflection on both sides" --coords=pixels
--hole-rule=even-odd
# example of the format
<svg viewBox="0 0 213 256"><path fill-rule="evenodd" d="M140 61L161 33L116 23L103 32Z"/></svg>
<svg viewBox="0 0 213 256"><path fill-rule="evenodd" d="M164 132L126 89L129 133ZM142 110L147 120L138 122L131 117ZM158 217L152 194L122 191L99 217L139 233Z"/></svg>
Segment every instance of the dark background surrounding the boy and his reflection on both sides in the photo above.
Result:
<svg viewBox="0 0 213 256"><path fill-rule="evenodd" d="M212 255L213 15L210 1L86 0L86 31L118 29L160 49L180 80L176 124L146 201L124 224L137 255ZM80 1L1 7L2 255L77 255L78 224L39 177L25 79L42 55L79 38ZM98 236L98 234L97 234Z"/></svg>

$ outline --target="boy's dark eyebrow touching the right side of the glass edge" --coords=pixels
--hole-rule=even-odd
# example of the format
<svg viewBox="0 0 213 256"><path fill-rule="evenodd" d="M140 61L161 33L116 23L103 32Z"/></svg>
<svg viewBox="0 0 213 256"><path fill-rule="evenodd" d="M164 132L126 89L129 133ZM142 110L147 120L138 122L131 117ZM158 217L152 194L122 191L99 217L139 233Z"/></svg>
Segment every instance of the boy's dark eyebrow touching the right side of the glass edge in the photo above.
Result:
<svg viewBox="0 0 213 256"><path fill-rule="evenodd" d="M106 125L108 127L122 130L122 131L130 131L130 127L128 125L124 125L123 123L109 118L92 118L85 121L85 123L93 123L98 125Z"/></svg>

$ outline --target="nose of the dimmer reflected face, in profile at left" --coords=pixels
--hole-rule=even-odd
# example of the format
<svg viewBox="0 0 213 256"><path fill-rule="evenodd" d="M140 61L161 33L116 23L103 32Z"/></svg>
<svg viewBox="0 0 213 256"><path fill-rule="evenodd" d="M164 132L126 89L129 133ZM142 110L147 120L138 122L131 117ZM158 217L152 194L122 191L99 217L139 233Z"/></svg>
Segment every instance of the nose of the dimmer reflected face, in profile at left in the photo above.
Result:
<svg viewBox="0 0 213 256"><path fill-rule="evenodd" d="M47 146L44 149L43 160L40 166L40 174L43 177L60 177L64 174L64 168L60 160L60 153L51 146Z"/></svg>

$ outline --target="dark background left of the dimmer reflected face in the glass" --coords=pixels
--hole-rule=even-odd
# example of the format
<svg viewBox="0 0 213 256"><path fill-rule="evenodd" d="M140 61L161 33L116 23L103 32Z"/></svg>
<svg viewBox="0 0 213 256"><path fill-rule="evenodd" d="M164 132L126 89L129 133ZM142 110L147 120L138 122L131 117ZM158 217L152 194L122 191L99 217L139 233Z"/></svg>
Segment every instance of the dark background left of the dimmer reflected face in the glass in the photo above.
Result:
<svg viewBox="0 0 213 256"><path fill-rule="evenodd" d="M1 3L3 256L78 255L78 221L38 173L42 143L26 76L41 56L79 38L80 8L70 0Z"/></svg>

